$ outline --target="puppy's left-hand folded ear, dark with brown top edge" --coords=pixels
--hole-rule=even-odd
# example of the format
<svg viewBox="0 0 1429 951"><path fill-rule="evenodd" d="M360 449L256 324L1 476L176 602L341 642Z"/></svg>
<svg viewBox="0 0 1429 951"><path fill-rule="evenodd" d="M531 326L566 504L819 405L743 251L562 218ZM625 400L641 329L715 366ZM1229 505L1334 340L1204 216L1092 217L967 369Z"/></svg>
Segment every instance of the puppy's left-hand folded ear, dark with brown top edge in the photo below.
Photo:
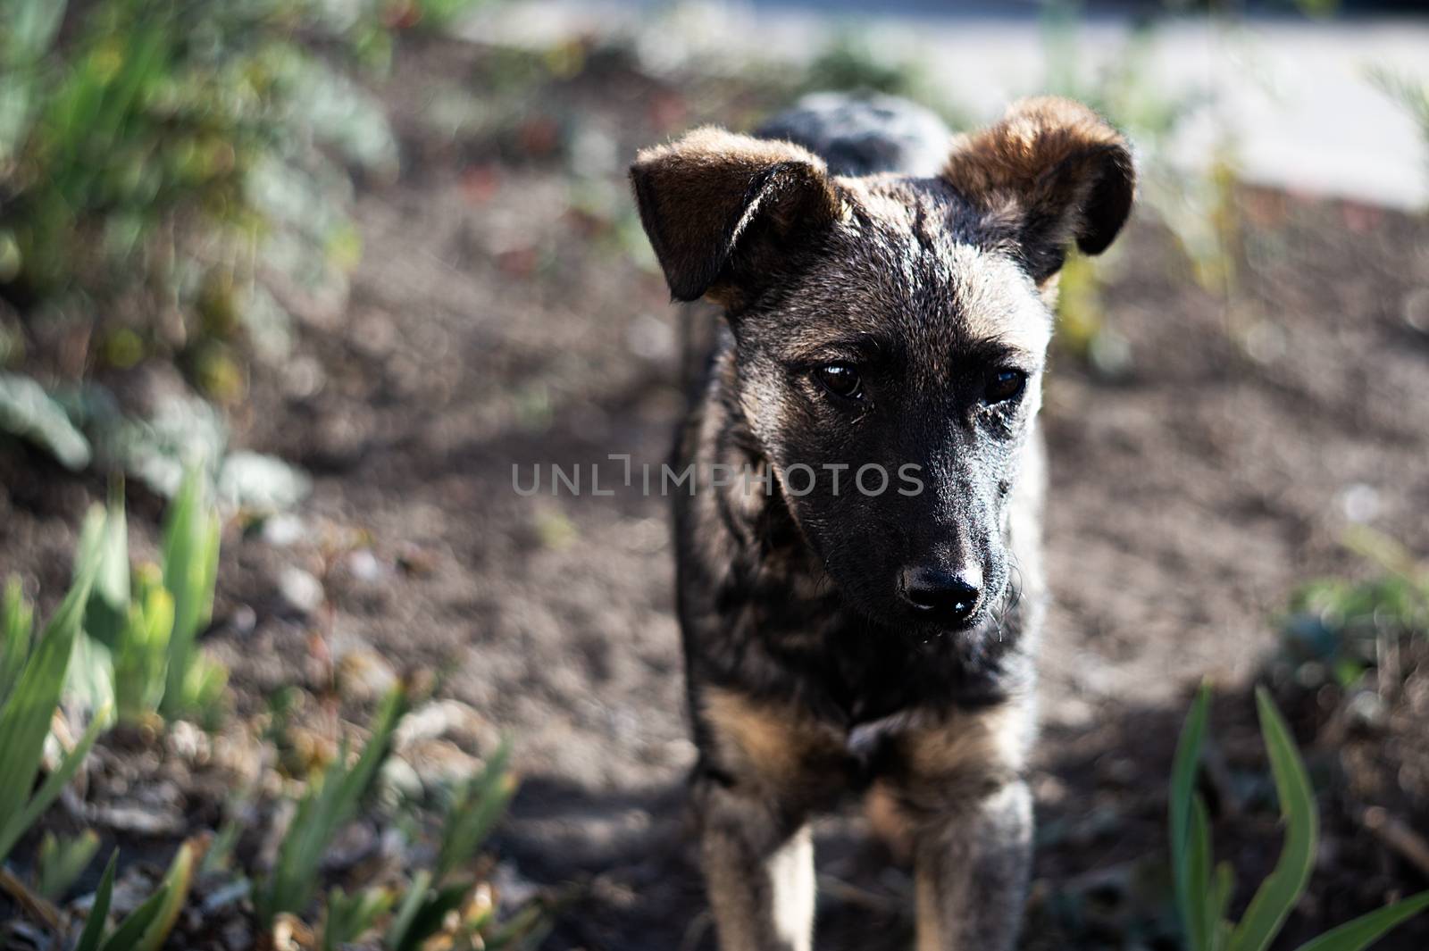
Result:
<svg viewBox="0 0 1429 951"><path fill-rule="evenodd" d="M630 181L676 300L709 294L735 303L827 228L840 207L813 153L722 129L646 149L630 166Z"/></svg>

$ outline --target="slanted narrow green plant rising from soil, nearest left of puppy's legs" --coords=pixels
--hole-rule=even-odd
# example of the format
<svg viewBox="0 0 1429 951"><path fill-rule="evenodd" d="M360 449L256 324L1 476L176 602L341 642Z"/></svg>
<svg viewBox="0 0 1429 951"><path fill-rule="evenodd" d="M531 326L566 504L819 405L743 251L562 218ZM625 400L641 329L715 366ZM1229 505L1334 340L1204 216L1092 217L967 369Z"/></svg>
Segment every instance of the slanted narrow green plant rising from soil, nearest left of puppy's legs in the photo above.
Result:
<svg viewBox="0 0 1429 951"><path fill-rule="evenodd" d="M277 861L254 897L259 917L272 922L277 915L302 912L317 888L317 872L337 830L353 818L377 767L387 757L393 730L406 708L399 687L387 694L373 720L372 735L352 764L343 744L319 781L309 785L297 804Z"/></svg>

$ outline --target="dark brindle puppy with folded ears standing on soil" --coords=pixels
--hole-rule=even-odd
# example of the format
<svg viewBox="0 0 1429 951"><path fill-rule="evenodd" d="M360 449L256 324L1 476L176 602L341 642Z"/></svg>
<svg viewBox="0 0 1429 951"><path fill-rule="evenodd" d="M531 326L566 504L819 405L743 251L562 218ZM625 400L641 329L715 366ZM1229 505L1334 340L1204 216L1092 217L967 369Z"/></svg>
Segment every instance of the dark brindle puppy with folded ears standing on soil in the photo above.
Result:
<svg viewBox="0 0 1429 951"><path fill-rule="evenodd" d="M719 947L813 947L809 821L862 798L912 858L919 951L1003 951L1032 850L1056 281L1126 221L1132 153L1050 97L953 137L823 96L763 133L697 129L630 170L670 294L723 311L674 463Z"/></svg>

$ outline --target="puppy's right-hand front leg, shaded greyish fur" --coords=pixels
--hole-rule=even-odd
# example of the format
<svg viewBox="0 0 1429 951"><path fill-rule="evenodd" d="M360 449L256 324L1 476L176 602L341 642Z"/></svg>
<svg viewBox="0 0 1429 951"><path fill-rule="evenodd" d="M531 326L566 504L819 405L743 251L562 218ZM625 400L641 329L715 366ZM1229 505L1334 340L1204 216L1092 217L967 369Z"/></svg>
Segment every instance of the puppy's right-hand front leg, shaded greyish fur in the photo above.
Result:
<svg viewBox="0 0 1429 951"><path fill-rule="evenodd" d="M1010 951L1032 860L1032 795L1010 783L913 844L917 951Z"/></svg>

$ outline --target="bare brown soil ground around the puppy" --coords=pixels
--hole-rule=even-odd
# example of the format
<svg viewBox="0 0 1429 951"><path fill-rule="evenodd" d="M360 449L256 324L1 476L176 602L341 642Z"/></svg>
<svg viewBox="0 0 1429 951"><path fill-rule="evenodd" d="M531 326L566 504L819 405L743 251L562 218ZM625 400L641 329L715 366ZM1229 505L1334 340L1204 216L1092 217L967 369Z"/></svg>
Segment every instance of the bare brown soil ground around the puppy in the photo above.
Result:
<svg viewBox="0 0 1429 951"><path fill-rule="evenodd" d="M579 70L527 64L519 84L497 81L519 71L507 54L472 47L399 61L404 171L360 193L350 306L312 316L290 366L256 367L234 418L242 444L307 468L314 491L296 520L226 535L207 641L240 713L333 670L359 677L343 657L367 650L440 671L440 690L486 721L477 747L516 741L524 781L499 841L509 888L583 884L544 947L707 948L680 808L693 748L667 500L619 484L553 497L549 466L663 461L680 314L623 168L696 121L749 124L779 90L569 56ZM1228 770L1262 770L1245 688L1289 593L1369 570L1340 544L1352 517L1429 553L1429 227L1268 193L1243 208L1230 304L1143 216L1102 271L1125 373L1060 353L1047 381L1056 608L1027 947L1173 947L1156 868L1189 688L1208 675L1226 688ZM513 466L529 480L536 464L546 493L517 495ZM37 478L37 466L0 454L0 564L57 590L103 485ZM159 505L130 494L146 544ZM279 594L292 568L322 580L316 614ZM1315 710L1312 695L1295 715L1303 741ZM1420 734L1410 723L1399 741L1429 760ZM1425 828L1429 800L1396 801ZM1322 800L1302 935L1425 884L1345 802ZM1273 862L1278 832L1265 810L1238 808L1218 845L1245 881ZM820 837L820 947L903 947L910 882L857 831L845 818ZM1426 941L1418 925L1382 947Z"/></svg>

